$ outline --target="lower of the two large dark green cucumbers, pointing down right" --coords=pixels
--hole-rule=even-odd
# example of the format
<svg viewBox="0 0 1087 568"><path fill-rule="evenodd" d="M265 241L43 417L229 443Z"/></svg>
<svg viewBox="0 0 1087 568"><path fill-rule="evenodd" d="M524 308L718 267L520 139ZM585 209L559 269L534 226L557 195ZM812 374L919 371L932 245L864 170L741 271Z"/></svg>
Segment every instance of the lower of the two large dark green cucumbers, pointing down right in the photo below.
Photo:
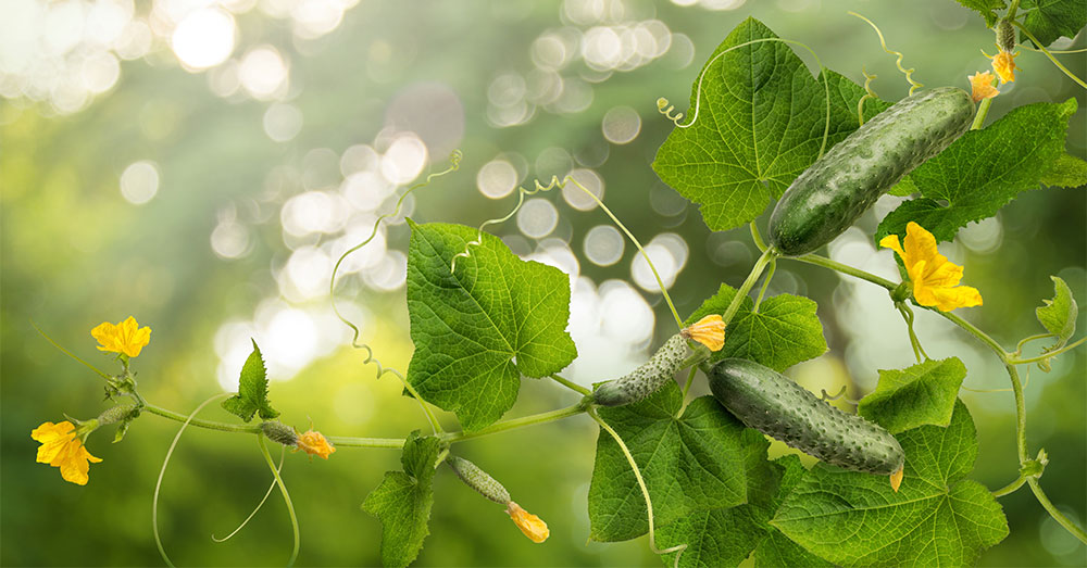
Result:
<svg viewBox="0 0 1087 568"><path fill-rule="evenodd" d="M902 446L890 432L830 406L758 363L721 361L710 371L710 390L747 426L828 464L890 475L905 462Z"/></svg>

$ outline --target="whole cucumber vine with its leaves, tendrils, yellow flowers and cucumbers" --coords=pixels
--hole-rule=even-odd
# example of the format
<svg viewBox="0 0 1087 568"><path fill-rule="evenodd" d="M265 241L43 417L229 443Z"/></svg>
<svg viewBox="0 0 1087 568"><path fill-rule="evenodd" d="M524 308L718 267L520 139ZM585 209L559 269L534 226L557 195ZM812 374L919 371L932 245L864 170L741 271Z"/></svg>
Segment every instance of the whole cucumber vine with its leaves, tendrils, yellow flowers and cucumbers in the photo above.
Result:
<svg viewBox="0 0 1087 568"><path fill-rule="evenodd" d="M264 361L255 341L240 369L236 393L216 394L187 415L154 405L140 394L132 368L140 349L148 344L150 329L128 318L117 325L104 323L93 332L99 350L116 353L116 375L98 369L38 330L103 379L107 399L114 404L97 418L45 422L35 429L32 436L42 444L38 462L59 467L65 480L86 484L89 464L100 462L86 445L97 429L116 425L120 441L142 414L180 422L151 501L154 543L170 566L173 563L159 534L159 496L174 450L190 426L255 436L272 482L237 529L225 538L212 539L223 542L235 535L277 489L293 535L288 566L295 564L301 550L299 519L280 475L285 457L276 465L268 441L280 444L284 451L290 447L324 459L343 449L399 450L401 469L386 472L361 505L380 522L382 561L407 566L416 559L429 531L432 507L440 502L433 484L436 475L455 475L484 497L507 506L505 513L527 538L546 541L550 534L547 522L511 498L511 490L516 493L517 488L508 490L480 466L461 457L457 444L580 415L599 427L588 493L589 538L613 542L648 535L649 548L676 567L735 565L752 556L757 566L972 564L1009 533L997 500L1024 485L1058 523L1087 543L1084 529L1054 506L1041 487L1050 458L1045 449L1035 452L1027 443L1025 384L1020 378L1023 365L1027 365L1028 380L1029 366L1049 371L1053 359L1087 342L1087 338L1073 339L1076 300L1062 279L1052 277L1054 296L1037 310L1047 332L1024 338L1014 350L1005 350L954 313L980 305L984 290L959 286L960 279L970 281L969 270L937 250L937 243L953 240L969 223L996 215L1023 191L1042 185L1087 185L1087 162L1067 154L1064 146L1069 121L1077 112L1075 100L1020 106L986 125L994 97L999 94L995 80L999 78L1000 85L1015 80L1016 30L1022 41L1033 43L1020 47L1041 51L1087 89L1087 83L1057 60L1055 54L1067 51L1047 49L1057 38L1074 36L1087 24L1087 7L1084 14L1069 16L1066 10L1054 8L1062 2L1012 0L1007 9L1003 0L961 3L977 11L997 31L1000 49L990 58L996 77L979 71L971 78L970 96L950 87L920 90L923 85L912 77L914 68L902 65L903 53L887 47L874 22L849 12L875 30L883 51L897 56L895 65L910 84L909 98L898 103L884 101L871 87L875 75L862 70L864 85L857 85L824 66L808 46L778 38L761 22L749 18L701 67L691 86L687 122L667 99L658 100L658 111L675 128L653 162L657 175L699 205L711 230L747 227L760 251L738 289L721 285L686 318L635 231L577 179L554 176L546 184L537 179L530 188L518 187L510 213L477 228L407 219L411 240L405 295L415 352L403 373L383 365L374 349L360 342L360 327L337 306L337 276L349 255L374 240L382 223L400 215L409 194L460 168L463 156L457 151L447 168L408 188L392 211L374 222L370 236L335 262L328 286L332 310L352 331L350 344L365 354L362 364L376 367L375 379L395 375L402 382L404 395L416 401L430 433L415 430L402 438L325 436L314 430L312 422L304 433L295 430L277 419L279 411L270 400ZM1067 0L1063 4L1078 7L1083 2ZM792 46L814 58L817 74L811 73ZM954 115L950 119L953 124L948 126L933 126L939 109L915 104L940 97L953 99L948 103L954 105L948 112ZM887 124L895 128L887 128ZM933 142L935 137L940 137L938 143ZM915 151L908 144L925 144L925 149ZM909 160L888 157L898 155L892 147L905 148L902 153L909 154ZM876 155L857 160L847 155L847 160L839 155L847 148ZM873 179L877 174L854 166L862 159L874 161L878 180ZM887 163L892 160L895 163ZM844 174L850 167L853 177ZM815 172L811 176L824 177L817 178L817 188L804 189L811 172ZM841 181L847 177L848 182ZM600 377L604 382L592 389L562 375L578 355L566 331L571 308L567 276L517 257L485 230L513 217L526 197L567 185L587 194L634 243L652 270L679 330L646 365L617 380ZM820 199L801 191L812 191ZM845 231L887 191L905 199L880 220L872 238L876 250L895 251L880 254L896 255L899 281L812 252L822 249L827 238ZM850 194L842 198L845 193ZM767 242L757 219L775 200ZM803 209L815 202L832 205ZM787 211L780 218L796 225L778 230L777 210L783 209ZM819 228L812 229L814 226ZM783 244L782 235L787 230L795 232L799 244ZM795 254L786 254L789 251ZM845 388L834 396L823 390L820 399L783 375L787 368L822 355L827 344L813 300L767 295L779 262L814 265L883 288L902 317L903 341L909 341L916 364L882 370L872 393L858 401L846 397L857 407L857 416L826 404L844 397ZM1009 472L1015 478L1003 488L989 490L966 479L977 454L977 440L970 411L958 395L961 389L974 389L963 387L967 369L958 357L929 357L914 329L915 311L935 313L974 338L1008 375L1010 389L1000 390L1010 390L1014 396L1019 464ZM1025 353L1027 345L1037 341L1052 343L1037 355ZM689 348L694 354L688 353ZM683 370L688 375L680 384L675 376ZM699 374L707 377L716 397L691 394ZM524 378L553 382L576 393L578 402L504 418ZM221 406L240 422L197 418L205 406L232 394ZM461 429L446 430L436 408L453 413ZM254 418L257 422L252 422ZM770 459L764 433L836 465L807 467L796 455ZM874 453L879 455L872 457ZM440 468L443 463L450 467ZM522 503L532 508L533 503ZM927 529L888 531L889 526ZM922 533L928 534L927 540ZM934 545L935 539L940 539L940 546Z"/></svg>

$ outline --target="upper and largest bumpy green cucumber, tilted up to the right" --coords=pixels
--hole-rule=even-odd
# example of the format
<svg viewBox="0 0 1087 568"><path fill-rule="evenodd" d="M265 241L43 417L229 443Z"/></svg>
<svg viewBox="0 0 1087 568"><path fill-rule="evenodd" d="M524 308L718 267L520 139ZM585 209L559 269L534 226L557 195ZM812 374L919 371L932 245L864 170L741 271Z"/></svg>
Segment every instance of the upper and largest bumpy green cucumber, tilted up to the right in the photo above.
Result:
<svg viewBox="0 0 1087 568"><path fill-rule="evenodd" d="M974 101L955 87L919 92L864 123L785 190L770 217L770 241L786 256L841 235L913 168L962 136Z"/></svg>

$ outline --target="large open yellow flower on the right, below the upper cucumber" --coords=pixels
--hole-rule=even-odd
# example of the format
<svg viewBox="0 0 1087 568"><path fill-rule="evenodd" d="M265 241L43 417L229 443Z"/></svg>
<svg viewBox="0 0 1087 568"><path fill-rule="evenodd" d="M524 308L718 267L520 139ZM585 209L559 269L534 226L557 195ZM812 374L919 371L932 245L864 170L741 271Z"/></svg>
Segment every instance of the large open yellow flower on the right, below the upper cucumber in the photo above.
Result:
<svg viewBox="0 0 1087 568"><path fill-rule="evenodd" d="M905 249L898 242L898 235L888 235L880 247L894 250L902 258L905 272L913 283L913 298L921 305L936 306L940 312L957 307L982 305L982 294L975 288L959 286L962 266L948 262L936 250L936 238L916 223L905 226Z"/></svg>

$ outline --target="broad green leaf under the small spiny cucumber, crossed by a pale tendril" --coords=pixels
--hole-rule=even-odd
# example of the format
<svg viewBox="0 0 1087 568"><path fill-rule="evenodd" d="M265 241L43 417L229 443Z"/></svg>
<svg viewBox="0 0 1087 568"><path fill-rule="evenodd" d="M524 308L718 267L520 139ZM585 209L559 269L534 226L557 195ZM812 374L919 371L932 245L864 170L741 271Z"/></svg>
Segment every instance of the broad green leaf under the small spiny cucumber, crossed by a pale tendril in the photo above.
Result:
<svg viewBox="0 0 1087 568"><path fill-rule="evenodd" d="M599 409L638 464L658 526L748 497L744 426L712 396L694 400L676 417L682 406L683 393L670 381L644 401ZM597 541L625 541L649 530L646 500L630 465L603 429L589 485L589 538Z"/></svg>

